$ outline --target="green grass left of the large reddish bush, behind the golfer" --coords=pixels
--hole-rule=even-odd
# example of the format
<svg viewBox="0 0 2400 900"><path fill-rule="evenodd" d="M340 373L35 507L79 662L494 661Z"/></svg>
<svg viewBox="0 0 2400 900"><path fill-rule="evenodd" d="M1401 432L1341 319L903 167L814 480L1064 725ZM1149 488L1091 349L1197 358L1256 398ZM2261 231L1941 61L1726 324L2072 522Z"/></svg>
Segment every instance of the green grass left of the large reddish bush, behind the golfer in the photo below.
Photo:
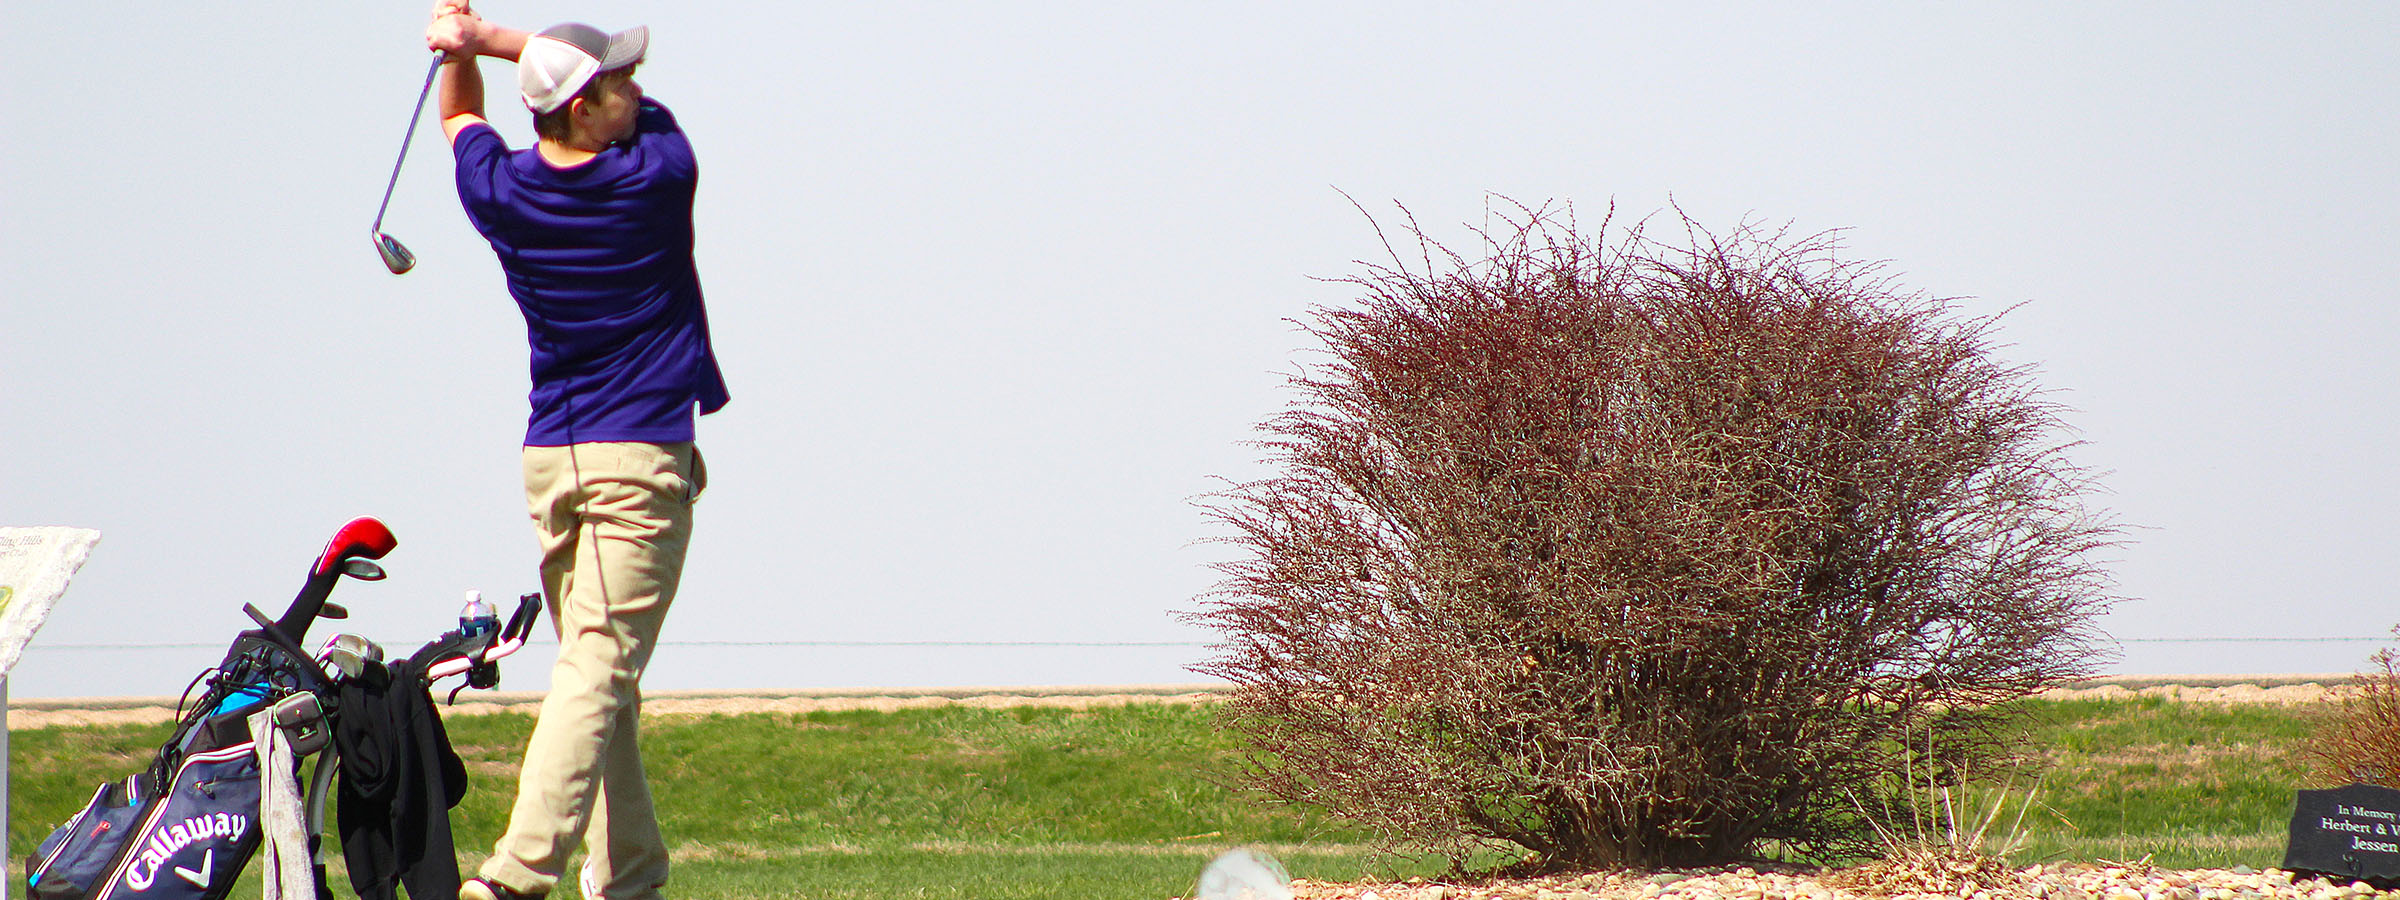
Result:
<svg viewBox="0 0 2400 900"><path fill-rule="evenodd" d="M506 823L530 730L516 713L449 720L470 775L451 811L468 866ZM19 734L12 871L98 780L146 763L166 734ZM1440 869L1375 859L1354 828L1226 787L1217 773L1236 744L1205 706L660 715L641 739L677 847L677 895L1169 898L1238 845L1267 845L1306 878ZM554 895L576 893L564 883Z"/></svg>

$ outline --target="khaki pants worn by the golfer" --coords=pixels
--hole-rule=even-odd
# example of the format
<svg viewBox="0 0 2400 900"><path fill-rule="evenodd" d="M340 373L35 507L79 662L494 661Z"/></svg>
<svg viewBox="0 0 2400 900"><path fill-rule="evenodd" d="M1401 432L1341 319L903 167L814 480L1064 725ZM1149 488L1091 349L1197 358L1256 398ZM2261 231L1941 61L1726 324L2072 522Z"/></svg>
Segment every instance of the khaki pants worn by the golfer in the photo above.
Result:
<svg viewBox="0 0 2400 900"><path fill-rule="evenodd" d="M703 487L708 470L689 442L526 446L559 662L485 878L550 893L588 835L588 895L648 900L667 883L641 770L641 672L674 602Z"/></svg>

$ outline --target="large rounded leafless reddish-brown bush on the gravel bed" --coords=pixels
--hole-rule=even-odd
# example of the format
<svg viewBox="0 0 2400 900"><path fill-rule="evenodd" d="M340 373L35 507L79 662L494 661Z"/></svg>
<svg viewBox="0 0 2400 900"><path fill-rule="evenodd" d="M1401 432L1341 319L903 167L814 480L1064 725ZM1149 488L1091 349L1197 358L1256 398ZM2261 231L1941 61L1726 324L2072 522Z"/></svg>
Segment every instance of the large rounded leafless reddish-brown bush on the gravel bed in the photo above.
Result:
<svg viewBox="0 0 2400 900"><path fill-rule="evenodd" d="M1502 221L1344 278L1210 502L1255 787L1452 859L1872 854L1858 797L2090 672L2114 530L1987 319L1824 235Z"/></svg>

